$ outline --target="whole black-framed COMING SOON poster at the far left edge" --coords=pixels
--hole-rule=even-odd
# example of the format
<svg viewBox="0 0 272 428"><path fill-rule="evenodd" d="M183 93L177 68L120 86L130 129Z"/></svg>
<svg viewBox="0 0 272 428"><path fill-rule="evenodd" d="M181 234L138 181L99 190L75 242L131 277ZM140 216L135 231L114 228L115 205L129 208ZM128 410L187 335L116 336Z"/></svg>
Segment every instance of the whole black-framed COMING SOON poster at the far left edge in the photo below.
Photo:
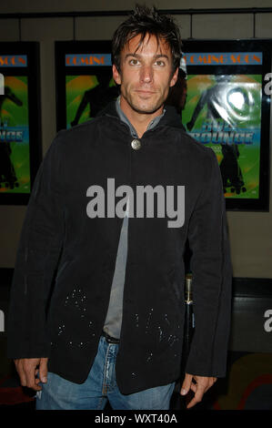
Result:
<svg viewBox="0 0 272 428"><path fill-rule="evenodd" d="M41 161L39 46L0 43L0 203L27 204Z"/></svg>

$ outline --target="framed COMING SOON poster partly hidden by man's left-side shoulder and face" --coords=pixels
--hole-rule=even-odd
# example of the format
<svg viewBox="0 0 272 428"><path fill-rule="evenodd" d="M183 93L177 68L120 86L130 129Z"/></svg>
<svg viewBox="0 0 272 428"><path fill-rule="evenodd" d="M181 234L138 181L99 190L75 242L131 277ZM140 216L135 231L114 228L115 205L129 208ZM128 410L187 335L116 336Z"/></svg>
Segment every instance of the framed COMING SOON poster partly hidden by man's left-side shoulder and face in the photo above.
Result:
<svg viewBox="0 0 272 428"><path fill-rule="evenodd" d="M108 41L55 42L57 128L96 117L119 95Z"/></svg>

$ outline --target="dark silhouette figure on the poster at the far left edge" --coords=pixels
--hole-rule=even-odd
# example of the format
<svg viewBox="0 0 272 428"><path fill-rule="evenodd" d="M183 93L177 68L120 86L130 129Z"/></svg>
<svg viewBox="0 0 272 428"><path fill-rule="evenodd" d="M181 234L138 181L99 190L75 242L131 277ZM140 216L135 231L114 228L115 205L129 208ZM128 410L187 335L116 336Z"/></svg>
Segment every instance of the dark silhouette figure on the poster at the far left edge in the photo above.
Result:
<svg viewBox="0 0 272 428"><path fill-rule="evenodd" d="M15 93L10 87L5 87L5 94L0 96L0 123L1 128L5 129L7 126L6 119L2 117L3 103L5 99L10 99L16 106L22 107L23 102L15 96ZM4 126L2 126L2 124ZM12 149L10 147L10 141L0 140L0 187L14 189L19 186L18 180L15 174L15 168L11 161Z"/></svg>

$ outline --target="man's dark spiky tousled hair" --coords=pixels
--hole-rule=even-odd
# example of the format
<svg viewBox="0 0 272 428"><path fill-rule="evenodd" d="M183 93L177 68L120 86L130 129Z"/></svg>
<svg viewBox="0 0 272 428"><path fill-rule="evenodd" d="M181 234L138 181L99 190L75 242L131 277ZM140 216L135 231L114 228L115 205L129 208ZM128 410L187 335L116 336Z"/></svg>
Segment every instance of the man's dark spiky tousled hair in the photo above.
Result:
<svg viewBox="0 0 272 428"><path fill-rule="evenodd" d="M178 26L173 18L160 14L156 7L136 5L135 10L121 25L116 28L112 39L112 63L116 65L118 72L121 71L121 52L129 40L141 35L139 46L148 36L156 36L157 44L163 39L170 47L172 54L173 74L180 64L182 42Z"/></svg>

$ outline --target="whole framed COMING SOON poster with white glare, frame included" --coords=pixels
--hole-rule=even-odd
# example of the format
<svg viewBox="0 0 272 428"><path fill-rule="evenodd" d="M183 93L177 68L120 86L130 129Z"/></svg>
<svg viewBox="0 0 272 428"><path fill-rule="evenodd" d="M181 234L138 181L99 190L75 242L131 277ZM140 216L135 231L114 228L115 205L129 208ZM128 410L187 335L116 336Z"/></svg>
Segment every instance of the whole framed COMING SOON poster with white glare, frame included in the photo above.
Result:
<svg viewBox="0 0 272 428"><path fill-rule="evenodd" d="M185 49L186 131L217 155L227 209L267 210L271 43L187 41Z"/></svg>

